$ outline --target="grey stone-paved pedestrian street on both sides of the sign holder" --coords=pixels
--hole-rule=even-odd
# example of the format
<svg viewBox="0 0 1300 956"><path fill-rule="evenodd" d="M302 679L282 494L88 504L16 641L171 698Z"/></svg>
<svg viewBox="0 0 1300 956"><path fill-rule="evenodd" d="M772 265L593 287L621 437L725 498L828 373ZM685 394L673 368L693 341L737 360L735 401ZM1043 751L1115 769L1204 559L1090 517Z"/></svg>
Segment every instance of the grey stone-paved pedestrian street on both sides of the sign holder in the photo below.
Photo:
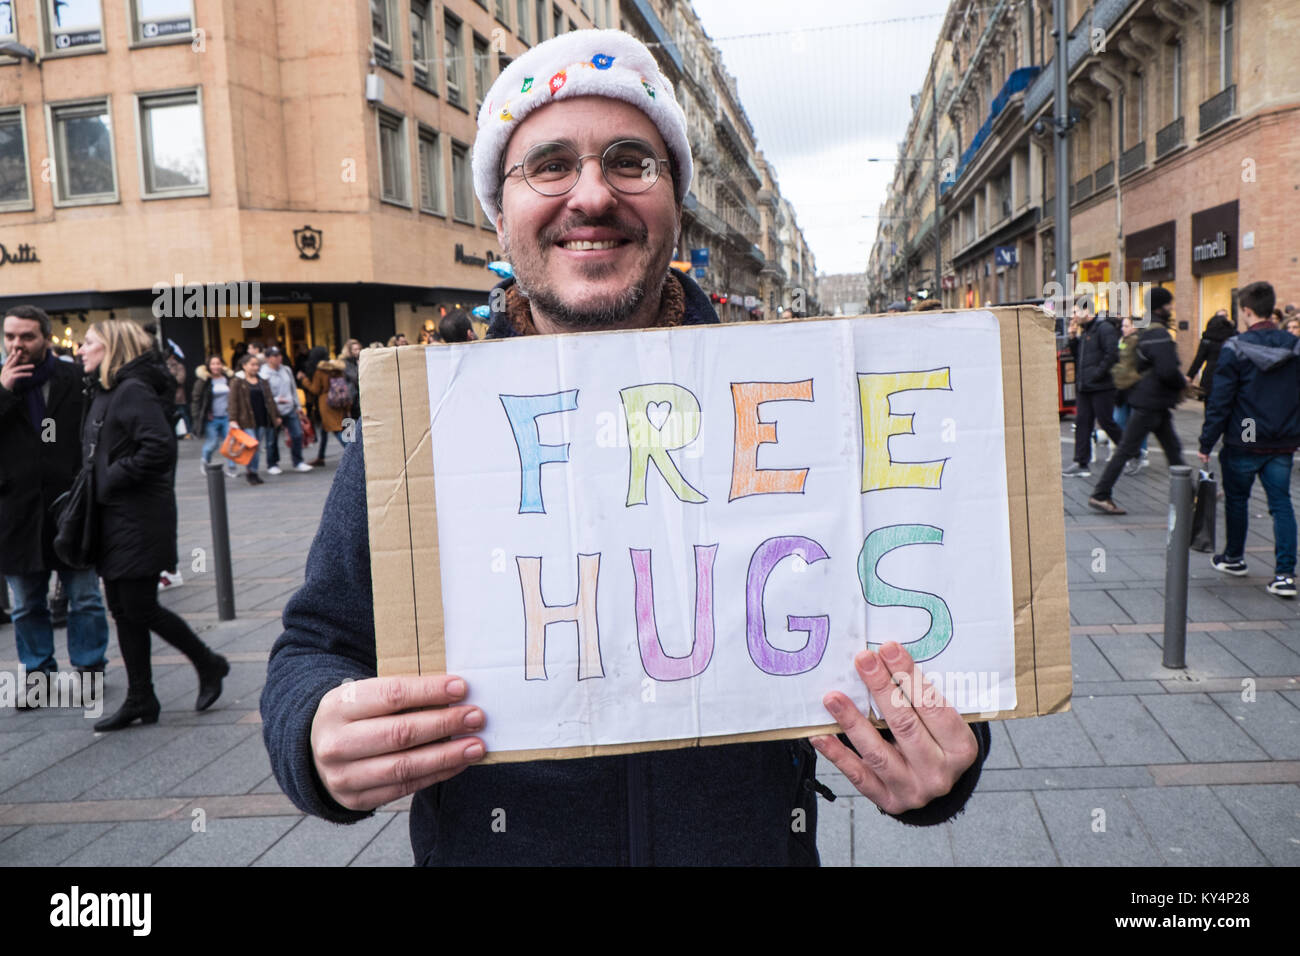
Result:
<svg viewBox="0 0 1300 956"><path fill-rule="evenodd" d="M1190 454L1199 424L1200 406L1179 412ZM1069 440L1063 423L1062 463ZM324 472L228 483L239 614L229 623L217 622L211 570L190 570L194 549L211 546L198 451L182 444L177 488L186 583L164 601L230 658L225 693L195 714L190 666L155 639L157 726L96 736L81 711L0 710L0 864L410 865L404 803L354 827L308 819L280 792L261 744L266 653L337 449ZM940 827L880 816L823 766L841 795L820 804L824 864L1300 865L1300 606L1264 591L1262 496L1248 578L1192 554L1188 669L1174 672L1161 666L1164 457L1152 447L1150 467L1121 479L1122 518L1088 510L1095 477L1065 480L1071 713L994 723L978 792ZM1222 533L1221 507L1221 544ZM116 641L110 653L109 711L125 695ZM16 667L12 627L0 627L0 669Z"/></svg>

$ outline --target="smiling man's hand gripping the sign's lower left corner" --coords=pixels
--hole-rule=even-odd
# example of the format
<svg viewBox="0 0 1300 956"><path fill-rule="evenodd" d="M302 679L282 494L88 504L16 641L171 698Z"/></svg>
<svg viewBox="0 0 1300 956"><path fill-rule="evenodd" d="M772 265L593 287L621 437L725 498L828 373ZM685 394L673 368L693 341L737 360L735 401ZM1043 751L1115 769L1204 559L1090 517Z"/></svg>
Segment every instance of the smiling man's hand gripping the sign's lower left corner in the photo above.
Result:
<svg viewBox="0 0 1300 956"><path fill-rule="evenodd" d="M316 708L312 760L321 783L350 810L373 810L455 777L482 760L484 711L448 706L465 696L450 674L368 678L335 687Z"/></svg>

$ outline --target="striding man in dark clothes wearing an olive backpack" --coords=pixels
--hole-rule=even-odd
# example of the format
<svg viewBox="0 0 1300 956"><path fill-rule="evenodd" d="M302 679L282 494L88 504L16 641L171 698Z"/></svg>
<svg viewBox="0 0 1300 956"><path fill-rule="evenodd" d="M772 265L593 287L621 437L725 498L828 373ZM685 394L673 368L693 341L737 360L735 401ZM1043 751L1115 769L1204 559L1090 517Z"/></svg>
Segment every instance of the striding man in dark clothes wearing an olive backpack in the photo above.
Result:
<svg viewBox="0 0 1300 956"><path fill-rule="evenodd" d="M1183 446L1174 432L1174 406L1183 398L1187 378L1178 362L1178 346L1169 334L1174 321L1174 294L1161 286L1147 293L1147 315L1150 325L1138 336L1138 371L1141 378L1128 389L1128 407L1132 412L1119 441L1092 489L1088 506L1106 515L1122 515L1124 510L1110 499L1110 492L1128 459L1141 450L1143 440L1154 433L1171 466L1183 463Z"/></svg>

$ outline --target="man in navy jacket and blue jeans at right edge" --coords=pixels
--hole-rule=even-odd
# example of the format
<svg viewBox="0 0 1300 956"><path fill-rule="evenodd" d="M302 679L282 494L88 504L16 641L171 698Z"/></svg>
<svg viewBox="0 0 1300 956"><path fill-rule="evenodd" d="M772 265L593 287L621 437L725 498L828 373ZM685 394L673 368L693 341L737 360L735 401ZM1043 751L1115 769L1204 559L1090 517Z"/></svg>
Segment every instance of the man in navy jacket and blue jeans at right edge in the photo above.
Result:
<svg viewBox="0 0 1300 956"><path fill-rule="evenodd" d="M1200 458L1210 460L1222 437L1223 516L1227 545L1212 564L1245 574L1248 501L1256 476L1273 515L1274 578L1270 594L1296 596L1296 518L1291 506L1291 464L1300 447L1300 341L1273 321L1275 297L1268 282L1238 293L1247 330L1219 351L1214 385L1205 406Z"/></svg>

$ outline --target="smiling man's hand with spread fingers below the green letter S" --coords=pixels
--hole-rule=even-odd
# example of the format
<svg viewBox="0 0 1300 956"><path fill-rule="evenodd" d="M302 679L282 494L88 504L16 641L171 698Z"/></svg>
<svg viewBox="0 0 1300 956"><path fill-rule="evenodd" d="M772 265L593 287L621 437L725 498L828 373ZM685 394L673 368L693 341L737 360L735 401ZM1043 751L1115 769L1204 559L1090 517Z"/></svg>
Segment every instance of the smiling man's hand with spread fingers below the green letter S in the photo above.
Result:
<svg viewBox="0 0 1300 956"><path fill-rule="evenodd" d="M948 793L979 756L975 734L939 691L922 683L902 645L890 641L879 654L863 650L853 663L894 740L887 741L852 700L832 691L823 702L858 753L833 736L812 737L812 745L885 813L914 810Z"/></svg>

